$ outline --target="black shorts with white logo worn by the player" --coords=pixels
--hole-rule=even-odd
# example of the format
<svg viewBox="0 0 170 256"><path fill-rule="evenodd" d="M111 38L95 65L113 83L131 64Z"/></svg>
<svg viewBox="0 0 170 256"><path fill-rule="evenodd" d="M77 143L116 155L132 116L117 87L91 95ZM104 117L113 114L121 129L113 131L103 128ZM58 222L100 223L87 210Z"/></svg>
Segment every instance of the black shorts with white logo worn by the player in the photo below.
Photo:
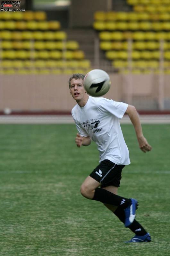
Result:
<svg viewBox="0 0 170 256"><path fill-rule="evenodd" d="M122 169L125 165L118 165L110 160L103 160L92 171L90 177L101 183L100 187L115 186L120 187Z"/></svg>

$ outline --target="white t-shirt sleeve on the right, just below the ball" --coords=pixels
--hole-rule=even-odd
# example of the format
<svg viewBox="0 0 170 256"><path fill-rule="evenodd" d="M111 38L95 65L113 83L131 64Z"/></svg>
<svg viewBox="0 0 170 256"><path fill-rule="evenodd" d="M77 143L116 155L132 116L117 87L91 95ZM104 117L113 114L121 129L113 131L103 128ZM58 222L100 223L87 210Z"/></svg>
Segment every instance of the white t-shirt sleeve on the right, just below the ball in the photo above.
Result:
<svg viewBox="0 0 170 256"><path fill-rule="evenodd" d="M99 106L99 109L107 113L109 112L115 115L117 118L121 119L126 112L127 107L127 103L108 100L104 98L102 100L102 104Z"/></svg>

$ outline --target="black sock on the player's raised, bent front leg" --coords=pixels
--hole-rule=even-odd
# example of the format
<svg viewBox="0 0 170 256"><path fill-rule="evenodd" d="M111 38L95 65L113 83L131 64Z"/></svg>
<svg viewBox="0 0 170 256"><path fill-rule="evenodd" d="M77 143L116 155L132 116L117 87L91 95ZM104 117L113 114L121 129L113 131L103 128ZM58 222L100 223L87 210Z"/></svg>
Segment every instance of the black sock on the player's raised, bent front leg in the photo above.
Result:
<svg viewBox="0 0 170 256"><path fill-rule="evenodd" d="M131 200L125 197L117 196L104 188L96 188L93 200L100 201L104 204L120 206L125 209L131 203Z"/></svg>

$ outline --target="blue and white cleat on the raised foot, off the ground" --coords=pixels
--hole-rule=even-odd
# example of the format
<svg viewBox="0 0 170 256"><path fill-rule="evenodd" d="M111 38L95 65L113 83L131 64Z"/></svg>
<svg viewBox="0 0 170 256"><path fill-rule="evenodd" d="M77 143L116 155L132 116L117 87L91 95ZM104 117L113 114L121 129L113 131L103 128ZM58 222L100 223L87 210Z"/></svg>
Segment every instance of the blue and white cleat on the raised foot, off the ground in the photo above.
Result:
<svg viewBox="0 0 170 256"><path fill-rule="evenodd" d="M131 198L131 205L129 205L127 208L124 209L125 227L129 227L130 224L132 224L132 222L134 221L136 216L135 212L136 212L137 206L138 206L138 201L136 199Z"/></svg>

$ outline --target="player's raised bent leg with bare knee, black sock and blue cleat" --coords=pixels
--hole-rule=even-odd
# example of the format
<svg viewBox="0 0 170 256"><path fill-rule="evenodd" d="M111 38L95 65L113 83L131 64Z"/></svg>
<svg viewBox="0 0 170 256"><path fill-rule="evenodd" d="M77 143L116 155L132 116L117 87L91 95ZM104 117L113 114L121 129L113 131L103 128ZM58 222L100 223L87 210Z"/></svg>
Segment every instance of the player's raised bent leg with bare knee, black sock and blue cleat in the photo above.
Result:
<svg viewBox="0 0 170 256"><path fill-rule="evenodd" d="M99 188L100 185L100 182L88 176L81 185L82 196L88 199L100 201L104 204L118 206L118 208L124 210L124 224L128 227L134 221L137 201L135 199L128 199L115 195L109 190ZM130 209L132 209L133 214Z"/></svg>

